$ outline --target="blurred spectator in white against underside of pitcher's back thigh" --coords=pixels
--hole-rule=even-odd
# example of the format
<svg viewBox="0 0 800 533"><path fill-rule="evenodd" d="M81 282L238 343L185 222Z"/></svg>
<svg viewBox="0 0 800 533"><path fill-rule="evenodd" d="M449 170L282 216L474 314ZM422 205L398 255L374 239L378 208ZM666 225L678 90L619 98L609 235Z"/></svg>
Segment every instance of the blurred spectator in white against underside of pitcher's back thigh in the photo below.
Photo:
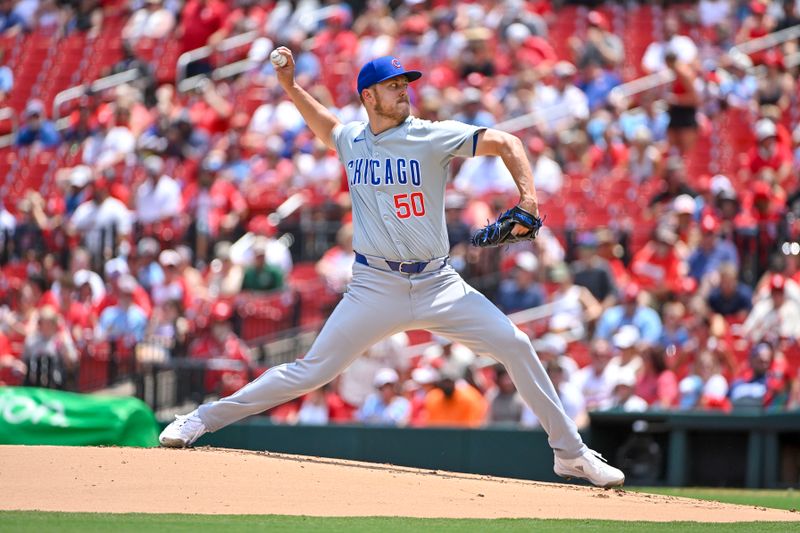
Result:
<svg viewBox="0 0 800 533"><path fill-rule="evenodd" d="M408 368L405 348L408 335L404 332L370 346L342 373L339 378L339 393L342 399L353 407L361 407L373 390L372 383L382 368L394 368L403 373Z"/></svg>

